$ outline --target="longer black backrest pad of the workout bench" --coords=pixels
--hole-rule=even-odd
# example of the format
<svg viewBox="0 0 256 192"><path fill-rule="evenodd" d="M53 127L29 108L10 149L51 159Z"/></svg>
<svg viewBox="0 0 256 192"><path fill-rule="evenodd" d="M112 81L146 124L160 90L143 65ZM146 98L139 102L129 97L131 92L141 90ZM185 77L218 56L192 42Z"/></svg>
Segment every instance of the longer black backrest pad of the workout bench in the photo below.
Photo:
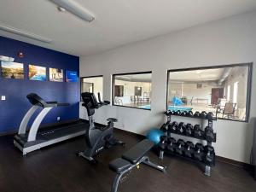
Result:
<svg viewBox="0 0 256 192"><path fill-rule="evenodd" d="M122 155L122 158L128 160L132 164L137 164L143 156L153 148L154 143L148 139L144 139L142 142L137 143L135 146L130 148L125 154Z"/></svg>

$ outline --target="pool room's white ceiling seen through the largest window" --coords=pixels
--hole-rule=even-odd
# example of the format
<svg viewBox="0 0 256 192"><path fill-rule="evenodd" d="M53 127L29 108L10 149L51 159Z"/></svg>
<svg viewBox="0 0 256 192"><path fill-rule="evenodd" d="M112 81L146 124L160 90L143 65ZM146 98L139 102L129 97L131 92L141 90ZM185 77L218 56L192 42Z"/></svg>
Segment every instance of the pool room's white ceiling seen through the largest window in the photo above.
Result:
<svg viewBox="0 0 256 192"><path fill-rule="evenodd" d="M181 71L171 72L169 79L172 81L218 81L225 68L213 68L204 70L193 70L193 71Z"/></svg>

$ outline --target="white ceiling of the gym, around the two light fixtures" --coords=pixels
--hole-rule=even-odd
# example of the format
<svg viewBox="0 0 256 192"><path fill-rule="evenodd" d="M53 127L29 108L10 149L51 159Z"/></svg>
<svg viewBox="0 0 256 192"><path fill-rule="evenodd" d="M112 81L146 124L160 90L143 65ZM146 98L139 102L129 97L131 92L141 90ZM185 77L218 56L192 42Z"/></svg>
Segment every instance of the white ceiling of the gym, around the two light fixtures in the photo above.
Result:
<svg viewBox="0 0 256 192"><path fill-rule="evenodd" d="M50 44L15 38L73 55L90 55L256 9L255 0L76 0L96 20L61 13L48 0L1 0L0 22L53 39Z"/></svg>

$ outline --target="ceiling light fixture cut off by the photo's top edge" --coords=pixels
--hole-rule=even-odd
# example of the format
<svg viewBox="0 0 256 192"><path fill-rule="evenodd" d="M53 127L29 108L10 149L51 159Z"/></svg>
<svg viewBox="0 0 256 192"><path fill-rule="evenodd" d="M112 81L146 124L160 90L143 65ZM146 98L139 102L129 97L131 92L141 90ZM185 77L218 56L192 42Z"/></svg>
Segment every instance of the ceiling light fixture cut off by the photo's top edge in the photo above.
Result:
<svg viewBox="0 0 256 192"><path fill-rule="evenodd" d="M83 6L81 6L79 3L76 3L73 0L49 0L52 3L55 3L58 7L61 7L61 9L65 9L68 12L72 13L73 15L78 16L82 20L86 20L88 22L91 22L92 20L95 20L95 17Z"/></svg>

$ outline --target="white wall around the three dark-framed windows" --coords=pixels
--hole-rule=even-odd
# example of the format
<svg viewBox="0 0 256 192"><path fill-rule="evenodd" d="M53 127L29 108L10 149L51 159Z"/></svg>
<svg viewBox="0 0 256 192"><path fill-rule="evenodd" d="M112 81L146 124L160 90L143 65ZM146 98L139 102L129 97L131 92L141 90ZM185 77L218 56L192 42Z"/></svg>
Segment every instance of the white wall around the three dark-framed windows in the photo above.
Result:
<svg viewBox="0 0 256 192"><path fill-rule="evenodd" d="M104 75L104 96L110 100L111 74L152 71L152 110L106 107L96 120L117 117L117 127L144 134L164 122L167 69L207 67L256 61L256 12L218 20L181 32L128 44L98 55L80 58L80 74ZM256 71L253 71L251 119L256 111ZM81 118L86 116L80 110ZM249 162L253 125L229 120L214 122L218 132L214 144L219 156ZM188 120L188 119L186 119Z"/></svg>

